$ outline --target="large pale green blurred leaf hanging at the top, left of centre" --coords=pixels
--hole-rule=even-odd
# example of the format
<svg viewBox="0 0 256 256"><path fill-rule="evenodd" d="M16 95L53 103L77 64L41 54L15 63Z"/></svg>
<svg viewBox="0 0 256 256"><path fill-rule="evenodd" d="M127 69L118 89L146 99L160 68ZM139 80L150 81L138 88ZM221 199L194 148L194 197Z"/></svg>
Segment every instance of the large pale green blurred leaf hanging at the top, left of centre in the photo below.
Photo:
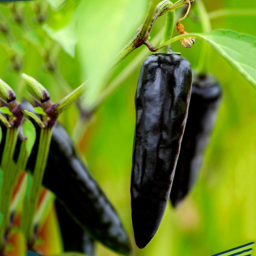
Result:
<svg viewBox="0 0 256 256"><path fill-rule="evenodd" d="M97 3L97 4L96 4ZM96 14L95 14L96 10ZM82 80L89 79L86 103L93 103L106 85L114 57L144 21L145 0L81 1L77 9L79 61Z"/></svg>

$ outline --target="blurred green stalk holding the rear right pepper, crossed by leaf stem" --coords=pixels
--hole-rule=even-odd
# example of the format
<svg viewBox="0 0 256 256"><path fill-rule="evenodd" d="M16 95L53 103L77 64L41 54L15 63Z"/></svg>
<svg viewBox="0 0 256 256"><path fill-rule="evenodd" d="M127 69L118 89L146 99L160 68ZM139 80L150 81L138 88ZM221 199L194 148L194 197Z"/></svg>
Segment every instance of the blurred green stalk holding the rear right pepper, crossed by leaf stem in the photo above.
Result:
<svg viewBox="0 0 256 256"><path fill-rule="evenodd" d="M208 12L206 11L206 8L204 7L204 3L202 3L202 0L197 0L197 8L199 10L199 18L202 25L202 32L208 33L212 31L212 25L210 22L210 18L208 15ZM200 62L199 62L199 74L206 74L210 67L210 57L212 56L212 50L210 46L207 44L207 42L202 42L202 52L200 56Z"/></svg>

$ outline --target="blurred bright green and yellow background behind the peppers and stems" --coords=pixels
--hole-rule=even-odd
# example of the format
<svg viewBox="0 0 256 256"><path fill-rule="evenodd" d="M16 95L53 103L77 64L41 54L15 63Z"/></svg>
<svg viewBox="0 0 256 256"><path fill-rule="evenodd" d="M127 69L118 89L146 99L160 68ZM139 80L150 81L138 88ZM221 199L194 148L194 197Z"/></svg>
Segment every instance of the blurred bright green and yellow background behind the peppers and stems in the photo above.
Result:
<svg viewBox="0 0 256 256"><path fill-rule="evenodd" d="M222 8L256 8L252 0L205 0L204 4L208 12ZM109 84L113 86L121 80L120 86L99 105L89 123L79 122L75 104L59 120L74 138L91 173L120 214L129 231L134 255L205 256L254 242L256 92L238 71L212 50L212 57L208 58L209 72L223 88L223 101L199 181L178 209L168 205L152 242L145 249L136 250L130 202L134 97L141 63L151 53L146 46L141 46L112 71L106 70L135 35L147 10L146 0L0 3L0 78L21 100L27 96L20 76L25 72L48 89L54 102L89 79L86 95L80 101L85 109L97 103ZM212 29L232 29L256 36L256 16L229 16L211 22ZM183 24L188 32L201 31L196 3ZM160 38L159 31L164 25L165 16L162 16L153 26L151 40ZM174 31L174 35L178 33ZM180 42L172 44L172 50L181 52L195 71L201 49L200 40L191 49L182 48ZM54 208L46 217L40 234L42 254L61 252ZM96 255L114 256L116 253L97 244Z"/></svg>

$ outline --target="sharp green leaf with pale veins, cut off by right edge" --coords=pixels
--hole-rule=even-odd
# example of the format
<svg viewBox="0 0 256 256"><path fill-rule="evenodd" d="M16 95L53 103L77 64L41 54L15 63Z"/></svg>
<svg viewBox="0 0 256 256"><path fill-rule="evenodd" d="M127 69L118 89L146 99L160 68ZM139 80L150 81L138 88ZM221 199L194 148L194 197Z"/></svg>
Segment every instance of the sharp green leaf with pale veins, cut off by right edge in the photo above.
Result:
<svg viewBox="0 0 256 256"><path fill-rule="evenodd" d="M209 42L256 89L256 37L227 29L195 35Z"/></svg>

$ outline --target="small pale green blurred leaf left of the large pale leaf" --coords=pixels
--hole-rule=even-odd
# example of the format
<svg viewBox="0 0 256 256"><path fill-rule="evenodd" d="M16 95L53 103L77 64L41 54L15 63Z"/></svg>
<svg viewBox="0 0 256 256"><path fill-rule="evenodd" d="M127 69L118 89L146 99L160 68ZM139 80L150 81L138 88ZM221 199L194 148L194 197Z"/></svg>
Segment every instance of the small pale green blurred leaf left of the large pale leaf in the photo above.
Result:
<svg viewBox="0 0 256 256"><path fill-rule="evenodd" d="M54 30L49 25L45 24L42 26L42 29L44 29L52 40L58 42L67 54L74 57L77 36L76 27L73 23L68 24L58 30Z"/></svg>

